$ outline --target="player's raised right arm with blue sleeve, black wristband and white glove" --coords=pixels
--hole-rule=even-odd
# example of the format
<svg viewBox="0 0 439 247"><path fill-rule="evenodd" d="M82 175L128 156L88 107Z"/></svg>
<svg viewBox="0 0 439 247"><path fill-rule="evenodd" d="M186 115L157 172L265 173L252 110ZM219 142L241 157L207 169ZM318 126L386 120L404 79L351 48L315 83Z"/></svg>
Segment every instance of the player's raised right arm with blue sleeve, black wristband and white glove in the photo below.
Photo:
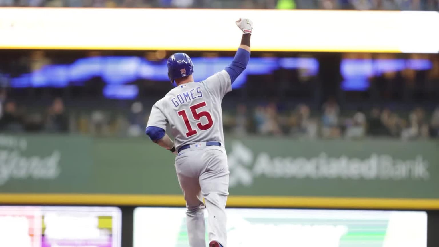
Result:
<svg viewBox="0 0 439 247"><path fill-rule="evenodd" d="M236 25L242 31L241 44L236 51L233 62L225 68L232 84L244 69L247 68L248 61L250 60L250 37L252 36L253 22L246 18L240 18L236 21Z"/></svg>

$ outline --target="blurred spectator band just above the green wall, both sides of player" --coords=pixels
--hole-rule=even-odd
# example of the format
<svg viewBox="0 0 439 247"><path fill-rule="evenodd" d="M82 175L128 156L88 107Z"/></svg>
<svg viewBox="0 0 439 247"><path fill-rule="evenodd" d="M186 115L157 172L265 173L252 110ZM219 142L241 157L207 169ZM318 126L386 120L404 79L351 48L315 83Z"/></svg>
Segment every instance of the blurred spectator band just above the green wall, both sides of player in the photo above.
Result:
<svg viewBox="0 0 439 247"><path fill-rule="evenodd" d="M125 109L66 109L55 98L44 110L29 110L0 93L0 132L76 133L96 136L143 136L148 111L142 102ZM439 138L439 105L433 111L414 107L411 111L393 111L372 107L342 114L334 99L313 110L306 104L294 108L275 103L236 109L223 109L226 134L245 136L287 136L291 138L361 139L366 137L414 140Z"/></svg>

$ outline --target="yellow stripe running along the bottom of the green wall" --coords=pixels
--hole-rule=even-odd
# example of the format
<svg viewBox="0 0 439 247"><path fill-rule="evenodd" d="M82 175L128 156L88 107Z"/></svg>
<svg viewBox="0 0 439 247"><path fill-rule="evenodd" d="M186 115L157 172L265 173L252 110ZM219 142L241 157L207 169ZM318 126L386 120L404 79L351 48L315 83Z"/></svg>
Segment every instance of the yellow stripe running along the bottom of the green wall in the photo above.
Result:
<svg viewBox="0 0 439 247"><path fill-rule="evenodd" d="M61 204L112 206L183 206L181 195L0 194L0 204ZM227 207L300 207L352 209L439 209L438 199L229 196Z"/></svg>

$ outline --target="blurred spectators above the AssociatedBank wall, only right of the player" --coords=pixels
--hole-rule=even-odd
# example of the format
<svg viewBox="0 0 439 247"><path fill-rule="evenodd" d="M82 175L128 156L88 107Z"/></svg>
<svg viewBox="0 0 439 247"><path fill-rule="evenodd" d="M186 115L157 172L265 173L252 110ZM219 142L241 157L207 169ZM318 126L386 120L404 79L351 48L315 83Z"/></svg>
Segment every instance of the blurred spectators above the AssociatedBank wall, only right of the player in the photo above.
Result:
<svg viewBox="0 0 439 247"><path fill-rule="evenodd" d="M252 110L237 105L233 114L225 116L224 127L226 132L238 136L255 133L310 139L439 138L439 105L432 112L422 107L401 112L371 107L344 114L335 100L328 100L315 113L306 104L292 110L279 110L273 103Z"/></svg>

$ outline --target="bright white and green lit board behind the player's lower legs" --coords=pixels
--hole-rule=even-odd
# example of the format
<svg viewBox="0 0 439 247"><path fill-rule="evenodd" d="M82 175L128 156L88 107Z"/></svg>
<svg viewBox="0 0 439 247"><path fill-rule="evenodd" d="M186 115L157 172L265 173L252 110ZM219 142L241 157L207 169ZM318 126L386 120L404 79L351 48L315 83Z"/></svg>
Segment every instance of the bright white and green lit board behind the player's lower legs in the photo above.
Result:
<svg viewBox="0 0 439 247"><path fill-rule="evenodd" d="M226 213L230 247L427 246L425 211L227 208ZM149 246L189 246L185 208L135 209L133 247Z"/></svg>

